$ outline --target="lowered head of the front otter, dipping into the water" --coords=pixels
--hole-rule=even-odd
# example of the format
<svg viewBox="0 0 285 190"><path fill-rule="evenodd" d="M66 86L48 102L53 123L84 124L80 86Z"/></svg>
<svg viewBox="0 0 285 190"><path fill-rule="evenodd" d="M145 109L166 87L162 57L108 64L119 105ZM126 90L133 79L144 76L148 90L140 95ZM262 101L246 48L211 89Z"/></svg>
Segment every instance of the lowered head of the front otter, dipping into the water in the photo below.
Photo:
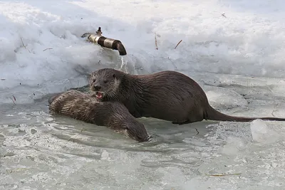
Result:
<svg viewBox="0 0 285 190"><path fill-rule="evenodd" d="M135 125L128 124L127 126L125 126L124 133L128 137L138 142L148 142L152 139L152 137L147 134L147 130L145 130L145 125L140 122L136 122Z"/></svg>

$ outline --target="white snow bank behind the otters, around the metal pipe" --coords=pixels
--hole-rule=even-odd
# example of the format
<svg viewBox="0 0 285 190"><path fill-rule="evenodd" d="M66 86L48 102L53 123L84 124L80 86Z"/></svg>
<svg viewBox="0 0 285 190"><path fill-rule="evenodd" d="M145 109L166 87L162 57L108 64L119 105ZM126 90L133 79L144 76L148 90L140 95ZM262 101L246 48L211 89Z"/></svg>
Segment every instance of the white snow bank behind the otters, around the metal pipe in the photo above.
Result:
<svg viewBox="0 0 285 190"><path fill-rule="evenodd" d="M85 85L95 69L120 68L117 51L80 37L98 26L123 42L130 73L284 77L285 3L274 2L1 1L0 102L33 102Z"/></svg>

